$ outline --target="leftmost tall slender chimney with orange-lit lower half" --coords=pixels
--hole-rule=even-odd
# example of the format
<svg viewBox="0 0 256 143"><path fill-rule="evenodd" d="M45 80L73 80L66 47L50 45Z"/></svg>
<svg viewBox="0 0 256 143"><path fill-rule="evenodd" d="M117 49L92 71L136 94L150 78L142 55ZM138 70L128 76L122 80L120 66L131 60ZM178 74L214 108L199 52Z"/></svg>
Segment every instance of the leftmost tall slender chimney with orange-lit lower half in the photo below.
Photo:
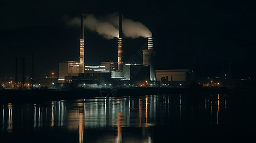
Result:
<svg viewBox="0 0 256 143"><path fill-rule="evenodd" d="M84 73L84 15L81 15L79 73Z"/></svg>

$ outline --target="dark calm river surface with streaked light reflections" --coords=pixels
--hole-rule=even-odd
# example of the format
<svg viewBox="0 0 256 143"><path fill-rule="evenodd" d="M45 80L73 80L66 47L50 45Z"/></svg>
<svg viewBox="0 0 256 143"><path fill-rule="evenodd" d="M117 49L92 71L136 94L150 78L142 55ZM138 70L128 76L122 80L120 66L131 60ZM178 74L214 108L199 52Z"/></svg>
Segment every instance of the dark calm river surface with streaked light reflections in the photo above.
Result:
<svg viewBox="0 0 256 143"><path fill-rule="evenodd" d="M246 93L4 103L0 142L244 141L255 133L254 105L255 95Z"/></svg>

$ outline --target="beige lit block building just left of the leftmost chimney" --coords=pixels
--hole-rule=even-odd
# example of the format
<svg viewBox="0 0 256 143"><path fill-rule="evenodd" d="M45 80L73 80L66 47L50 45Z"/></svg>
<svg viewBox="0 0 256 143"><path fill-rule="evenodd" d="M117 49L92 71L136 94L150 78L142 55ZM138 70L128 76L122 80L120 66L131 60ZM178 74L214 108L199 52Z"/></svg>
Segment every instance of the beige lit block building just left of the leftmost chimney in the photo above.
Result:
<svg viewBox="0 0 256 143"><path fill-rule="evenodd" d="M59 83L64 83L65 76L76 76L79 73L78 61L59 62Z"/></svg>

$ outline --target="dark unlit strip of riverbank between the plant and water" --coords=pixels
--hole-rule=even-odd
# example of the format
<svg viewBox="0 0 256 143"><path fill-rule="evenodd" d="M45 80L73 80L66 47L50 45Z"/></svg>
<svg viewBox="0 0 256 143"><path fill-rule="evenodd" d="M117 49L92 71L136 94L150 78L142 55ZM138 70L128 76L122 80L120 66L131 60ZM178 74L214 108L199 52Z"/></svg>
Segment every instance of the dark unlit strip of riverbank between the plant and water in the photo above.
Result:
<svg viewBox="0 0 256 143"><path fill-rule="evenodd" d="M119 88L119 89L81 89L81 90L0 90L0 102L37 102L71 100L95 97L144 96L178 93L223 93L253 92L255 90L235 90L226 87L200 88Z"/></svg>

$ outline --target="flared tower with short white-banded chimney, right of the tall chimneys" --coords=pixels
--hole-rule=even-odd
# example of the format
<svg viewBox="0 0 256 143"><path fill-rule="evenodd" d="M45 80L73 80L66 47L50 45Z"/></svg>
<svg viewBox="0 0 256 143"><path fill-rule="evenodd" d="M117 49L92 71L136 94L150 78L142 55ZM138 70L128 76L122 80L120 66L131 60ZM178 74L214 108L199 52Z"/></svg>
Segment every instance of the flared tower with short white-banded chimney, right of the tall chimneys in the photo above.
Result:
<svg viewBox="0 0 256 143"><path fill-rule="evenodd" d="M150 65L150 81L156 81L152 37L148 37L148 49L145 49L142 51L143 51L143 65Z"/></svg>

